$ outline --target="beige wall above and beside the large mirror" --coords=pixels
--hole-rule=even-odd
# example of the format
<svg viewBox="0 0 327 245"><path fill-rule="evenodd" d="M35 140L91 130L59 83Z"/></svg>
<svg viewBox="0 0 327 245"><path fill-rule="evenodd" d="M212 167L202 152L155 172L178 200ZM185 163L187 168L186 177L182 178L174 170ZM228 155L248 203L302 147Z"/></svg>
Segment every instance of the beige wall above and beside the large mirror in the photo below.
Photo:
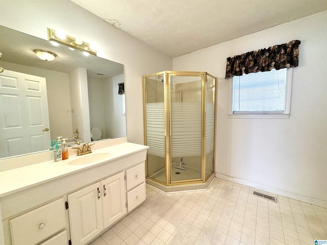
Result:
<svg viewBox="0 0 327 245"><path fill-rule="evenodd" d="M97 43L99 57L124 64L127 137L130 142L143 143L142 76L172 70L171 57L68 0L5 1L0 16L2 26L46 40L47 27L62 29L70 36Z"/></svg>

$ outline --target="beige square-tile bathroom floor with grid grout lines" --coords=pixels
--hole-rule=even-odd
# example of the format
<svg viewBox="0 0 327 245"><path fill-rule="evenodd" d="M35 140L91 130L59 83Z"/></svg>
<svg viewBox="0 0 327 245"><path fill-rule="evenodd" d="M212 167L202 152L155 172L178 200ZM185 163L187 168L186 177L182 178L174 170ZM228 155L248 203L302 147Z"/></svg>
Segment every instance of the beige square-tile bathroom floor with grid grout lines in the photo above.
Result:
<svg viewBox="0 0 327 245"><path fill-rule="evenodd" d="M147 185L147 200L91 245L313 245L327 239L327 209L215 179L204 191L166 194ZM265 193L265 192L264 192Z"/></svg>

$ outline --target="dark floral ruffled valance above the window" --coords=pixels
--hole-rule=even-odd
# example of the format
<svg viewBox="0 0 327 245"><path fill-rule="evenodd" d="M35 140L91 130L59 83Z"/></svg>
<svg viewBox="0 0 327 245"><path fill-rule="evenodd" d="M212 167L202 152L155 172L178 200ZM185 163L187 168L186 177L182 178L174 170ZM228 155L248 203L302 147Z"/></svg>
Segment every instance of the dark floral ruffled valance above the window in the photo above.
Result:
<svg viewBox="0 0 327 245"><path fill-rule="evenodd" d="M226 77L298 66L299 40L227 58Z"/></svg>

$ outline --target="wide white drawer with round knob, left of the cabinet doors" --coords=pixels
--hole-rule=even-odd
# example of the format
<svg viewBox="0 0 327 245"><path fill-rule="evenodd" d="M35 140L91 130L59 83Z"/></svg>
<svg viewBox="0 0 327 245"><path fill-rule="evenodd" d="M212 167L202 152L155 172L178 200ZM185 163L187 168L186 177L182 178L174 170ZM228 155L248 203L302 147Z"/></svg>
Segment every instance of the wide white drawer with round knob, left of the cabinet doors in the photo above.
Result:
<svg viewBox="0 0 327 245"><path fill-rule="evenodd" d="M63 198L9 221L13 245L36 244L66 226Z"/></svg>

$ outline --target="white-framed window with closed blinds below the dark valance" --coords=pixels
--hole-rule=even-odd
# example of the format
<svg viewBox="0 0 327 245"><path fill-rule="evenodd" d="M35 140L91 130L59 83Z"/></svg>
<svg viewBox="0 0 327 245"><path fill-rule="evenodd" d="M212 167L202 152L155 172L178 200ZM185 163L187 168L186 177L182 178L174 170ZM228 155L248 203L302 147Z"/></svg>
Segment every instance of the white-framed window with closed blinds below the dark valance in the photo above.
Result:
<svg viewBox="0 0 327 245"><path fill-rule="evenodd" d="M288 118L292 68L234 76L229 82L229 117Z"/></svg>

